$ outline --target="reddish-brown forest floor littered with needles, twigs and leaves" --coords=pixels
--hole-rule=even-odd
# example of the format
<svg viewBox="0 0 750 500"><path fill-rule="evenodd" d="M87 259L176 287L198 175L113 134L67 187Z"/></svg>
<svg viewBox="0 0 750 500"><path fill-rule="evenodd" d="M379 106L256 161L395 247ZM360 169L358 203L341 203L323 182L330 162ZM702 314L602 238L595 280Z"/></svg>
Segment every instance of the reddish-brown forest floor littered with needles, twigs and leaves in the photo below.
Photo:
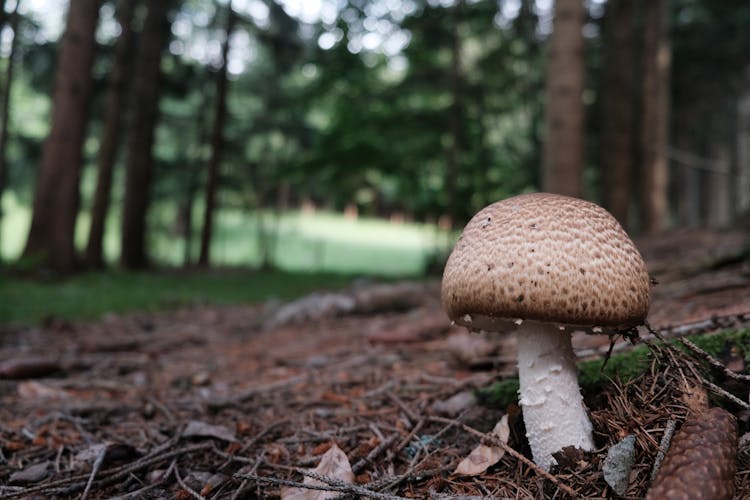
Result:
<svg viewBox="0 0 750 500"><path fill-rule="evenodd" d="M657 334L750 326L749 236L639 242L658 281ZM514 376L513 340L451 327L437 280L0 327L0 497L612 498L602 462L632 434L623 496L642 498L695 387L747 432L750 382L731 374L747 372L750 346L728 342L709 358L639 333L652 354L644 372L585 394L597 450L545 473L528 459L518 408L477 397ZM610 342L575 334L574 346L604 359ZM505 414L509 436L491 437ZM480 443L497 463L456 473ZM750 498L749 455L740 446L736 498Z"/></svg>

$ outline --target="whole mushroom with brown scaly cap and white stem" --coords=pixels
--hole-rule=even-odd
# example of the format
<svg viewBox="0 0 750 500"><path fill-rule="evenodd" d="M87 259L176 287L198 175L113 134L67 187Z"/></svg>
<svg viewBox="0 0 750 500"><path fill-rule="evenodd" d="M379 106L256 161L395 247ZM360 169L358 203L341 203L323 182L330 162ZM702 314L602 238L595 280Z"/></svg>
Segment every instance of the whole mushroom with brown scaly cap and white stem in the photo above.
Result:
<svg viewBox="0 0 750 500"><path fill-rule="evenodd" d="M594 448L570 333L642 324L650 304L643 258L594 203L533 193L493 203L466 225L445 266L443 308L471 331L514 331L519 403L534 462Z"/></svg>

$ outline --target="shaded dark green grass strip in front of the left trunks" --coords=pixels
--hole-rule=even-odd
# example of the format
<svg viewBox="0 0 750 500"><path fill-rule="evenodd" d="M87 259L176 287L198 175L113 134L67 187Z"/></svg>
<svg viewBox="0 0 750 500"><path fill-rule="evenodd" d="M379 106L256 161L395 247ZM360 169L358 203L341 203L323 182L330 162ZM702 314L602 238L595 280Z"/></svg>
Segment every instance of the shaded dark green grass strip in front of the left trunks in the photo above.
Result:
<svg viewBox="0 0 750 500"><path fill-rule="evenodd" d="M197 303L285 300L346 286L351 276L273 271L121 271L40 282L0 275L0 325L35 324L48 316L97 318L108 312L158 311Z"/></svg>

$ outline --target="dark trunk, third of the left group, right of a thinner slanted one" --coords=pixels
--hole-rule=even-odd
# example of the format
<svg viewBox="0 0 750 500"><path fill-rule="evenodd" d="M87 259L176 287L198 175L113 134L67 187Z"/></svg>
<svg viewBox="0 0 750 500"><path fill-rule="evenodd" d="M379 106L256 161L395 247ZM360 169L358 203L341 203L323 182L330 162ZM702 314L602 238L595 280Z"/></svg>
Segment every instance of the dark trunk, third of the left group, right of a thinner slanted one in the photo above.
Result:
<svg viewBox="0 0 750 500"><path fill-rule="evenodd" d="M127 269L148 265L146 214L148 212L154 129L159 114L160 65L169 33L168 3L149 2L136 56L135 113L125 165L121 263Z"/></svg>

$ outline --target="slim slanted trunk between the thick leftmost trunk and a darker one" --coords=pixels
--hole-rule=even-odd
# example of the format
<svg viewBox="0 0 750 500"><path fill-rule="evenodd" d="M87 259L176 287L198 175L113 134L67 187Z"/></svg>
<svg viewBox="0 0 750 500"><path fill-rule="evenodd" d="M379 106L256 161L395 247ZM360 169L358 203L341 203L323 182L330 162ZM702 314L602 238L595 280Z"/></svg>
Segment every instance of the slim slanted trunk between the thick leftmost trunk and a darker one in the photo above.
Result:
<svg viewBox="0 0 750 500"><path fill-rule="evenodd" d="M94 203L91 207L91 227L86 246L86 264L100 268L104 265L103 240L104 227L109 212L110 193L112 191L112 170L114 168L117 149L120 144L122 114L125 96L127 94L128 76L130 74L130 60L133 45L133 13L136 0L120 0L119 16L120 37L115 47L112 73L107 90L106 117L102 142L97 161L96 191Z"/></svg>

